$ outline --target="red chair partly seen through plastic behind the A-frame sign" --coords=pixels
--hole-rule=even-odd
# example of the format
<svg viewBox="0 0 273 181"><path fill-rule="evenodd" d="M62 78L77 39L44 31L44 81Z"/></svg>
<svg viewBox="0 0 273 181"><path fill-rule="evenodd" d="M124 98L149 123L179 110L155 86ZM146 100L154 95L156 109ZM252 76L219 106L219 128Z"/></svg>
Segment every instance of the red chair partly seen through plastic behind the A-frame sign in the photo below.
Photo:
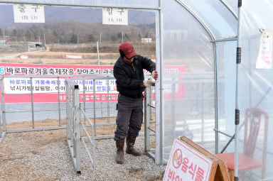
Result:
<svg viewBox="0 0 273 181"><path fill-rule="evenodd" d="M262 119L264 116L264 119ZM257 137L259 135L259 127L261 121L264 121L264 143L262 163L253 158ZM265 167L267 159L267 128L268 128L268 114L265 111L257 108L249 108L245 110L245 134L244 134L244 153L238 155L238 170L250 170L262 166L262 178L265 176ZM234 180L234 153L220 153L216 154L218 158L225 162L230 171L230 180Z"/></svg>

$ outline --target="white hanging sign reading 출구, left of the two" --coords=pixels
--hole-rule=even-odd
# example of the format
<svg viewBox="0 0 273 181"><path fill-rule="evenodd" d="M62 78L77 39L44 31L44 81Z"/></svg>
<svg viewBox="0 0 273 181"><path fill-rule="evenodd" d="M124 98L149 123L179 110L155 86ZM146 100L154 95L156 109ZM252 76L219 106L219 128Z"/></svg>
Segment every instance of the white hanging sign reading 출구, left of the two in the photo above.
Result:
<svg viewBox="0 0 273 181"><path fill-rule="evenodd" d="M14 4L14 23L45 23L43 5Z"/></svg>

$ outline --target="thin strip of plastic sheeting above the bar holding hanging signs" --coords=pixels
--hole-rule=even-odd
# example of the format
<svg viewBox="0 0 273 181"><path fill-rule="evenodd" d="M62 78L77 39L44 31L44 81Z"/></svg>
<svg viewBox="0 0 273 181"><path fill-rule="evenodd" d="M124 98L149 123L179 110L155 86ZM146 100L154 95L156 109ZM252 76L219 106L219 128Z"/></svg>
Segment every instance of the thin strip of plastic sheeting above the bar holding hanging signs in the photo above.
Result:
<svg viewBox="0 0 273 181"><path fill-rule="evenodd" d="M0 1L1 2L9 2L9 3L28 3L28 4L55 4L55 5L70 5L70 6L130 6L130 7L141 7L141 8L155 8L159 6L158 0L21 0L21 1Z"/></svg>

